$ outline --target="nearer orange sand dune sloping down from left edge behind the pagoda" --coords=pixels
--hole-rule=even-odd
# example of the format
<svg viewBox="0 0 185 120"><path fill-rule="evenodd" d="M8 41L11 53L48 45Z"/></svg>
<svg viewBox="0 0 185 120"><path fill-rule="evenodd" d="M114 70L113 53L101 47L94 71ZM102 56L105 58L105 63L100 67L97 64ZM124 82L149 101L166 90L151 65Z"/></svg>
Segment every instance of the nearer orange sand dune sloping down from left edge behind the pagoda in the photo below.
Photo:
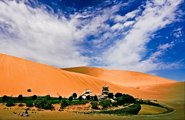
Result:
<svg viewBox="0 0 185 120"><path fill-rule="evenodd" d="M84 74L60 70L29 60L0 54L0 96L13 95L47 95L68 97L76 92L80 95L85 89L101 93L103 85L110 91L128 93L133 96L149 97L150 93L132 87L115 85ZM27 92L31 89L32 92Z"/></svg>

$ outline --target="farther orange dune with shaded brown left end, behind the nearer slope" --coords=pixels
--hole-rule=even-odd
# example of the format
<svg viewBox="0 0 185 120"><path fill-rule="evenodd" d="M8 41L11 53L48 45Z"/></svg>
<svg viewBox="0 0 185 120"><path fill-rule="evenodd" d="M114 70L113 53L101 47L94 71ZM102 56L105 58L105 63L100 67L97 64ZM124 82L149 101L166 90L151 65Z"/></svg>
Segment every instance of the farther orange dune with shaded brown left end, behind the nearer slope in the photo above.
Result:
<svg viewBox="0 0 185 120"><path fill-rule="evenodd" d="M158 76L149 75L141 72L134 72L134 71L108 70L108 69L92 68L92 67L65 68L63 70L94 76L99 79L106 80L117 85L132 86L132 87L176 82L176 81L161 78Z"/></svg>

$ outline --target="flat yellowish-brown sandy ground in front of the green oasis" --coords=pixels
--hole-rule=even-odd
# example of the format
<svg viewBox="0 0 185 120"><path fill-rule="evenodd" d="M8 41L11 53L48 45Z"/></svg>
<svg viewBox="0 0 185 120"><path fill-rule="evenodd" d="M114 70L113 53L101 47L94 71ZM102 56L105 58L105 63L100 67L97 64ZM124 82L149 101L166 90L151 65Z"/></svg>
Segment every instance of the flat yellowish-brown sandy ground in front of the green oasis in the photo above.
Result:
<svg viewBox="0 0 185 120"><path fill-rule="evenodd" d="M171 101L171 102L165 102L168 105L173 106L176 109L176 112L171 114L171 115L134 115L134 116L118 116L118 115L106 115L106 114L82 114L82 113L73 113L73 112L66 112L66 111L50 111L50 110L44 110L44 111L37 111L36 108L31 108L31 112L28 111L30 114L29 117L18 117L17 113L19 112L24 112L25 110L22 110L26 107L11 107L7 108L5 105L0 104L0 120L9 120L9 119L14 119L14 120L25 120L25 119L30 119L30 120L40 120L40 119L80 119L80 120L99 120L99 119L104 119L104 120L121 120L121 119L131 119L131 120L184 120L184 112L185 112L185 106L184 106L184 101ZM59 105L58 105L59 106ZM145 106L146 107L146 106ZM145 107L142 107L141 112ZM6 108L6 109L4 109ZM32 109L35 109L35 111L32 111ZM149 113L157 113L156 108L149 108L148 111ZM146 110L144 110L146 113ZM162 110L163 111L163 110ZM16 112L14 114L13 112ZM33 112L33 113L32 113ZM36 113L35 113L36 112Z"/></svg>

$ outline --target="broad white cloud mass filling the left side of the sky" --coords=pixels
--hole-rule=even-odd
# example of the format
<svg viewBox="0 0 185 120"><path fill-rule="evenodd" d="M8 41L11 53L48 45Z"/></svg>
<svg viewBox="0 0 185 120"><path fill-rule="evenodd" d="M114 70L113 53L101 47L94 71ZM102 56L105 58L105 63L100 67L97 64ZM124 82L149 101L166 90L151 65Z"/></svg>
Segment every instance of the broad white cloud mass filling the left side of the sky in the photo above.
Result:
<svg viewBox="0 0 185 120"><path fill-rule="evenodd" d="M44 7L44 6L43 6ZM79 21L31 8L23 2L0 1L0 51L57 67L88 65L75 44L85 34L77 31Z"/></svg>

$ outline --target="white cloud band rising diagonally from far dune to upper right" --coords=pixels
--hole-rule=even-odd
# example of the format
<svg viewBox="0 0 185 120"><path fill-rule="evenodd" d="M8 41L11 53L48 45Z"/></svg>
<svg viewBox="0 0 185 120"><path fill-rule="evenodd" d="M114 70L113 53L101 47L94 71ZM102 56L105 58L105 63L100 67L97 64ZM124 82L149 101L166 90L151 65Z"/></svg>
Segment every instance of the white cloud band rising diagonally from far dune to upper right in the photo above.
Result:
<svg viewBox="0 0 185 120"><path fill-rule="evenodd" d="M163 54L161 50L151 54L146 60L142 60L142 58L147 53L146 45L150 41L149 37L155 31L175 21L175 11L180 3L181 0L148 1L142 15L136 18L137 21L126 37L104 51L103 61L105 66L112 69L141 72L178 66L176 63L168 66L168 64L158 61L157 57ZM124 20L118 18L116 18L118 21ZM161 46L161 49L170 46L172 44L166 44Z"/></svg>

